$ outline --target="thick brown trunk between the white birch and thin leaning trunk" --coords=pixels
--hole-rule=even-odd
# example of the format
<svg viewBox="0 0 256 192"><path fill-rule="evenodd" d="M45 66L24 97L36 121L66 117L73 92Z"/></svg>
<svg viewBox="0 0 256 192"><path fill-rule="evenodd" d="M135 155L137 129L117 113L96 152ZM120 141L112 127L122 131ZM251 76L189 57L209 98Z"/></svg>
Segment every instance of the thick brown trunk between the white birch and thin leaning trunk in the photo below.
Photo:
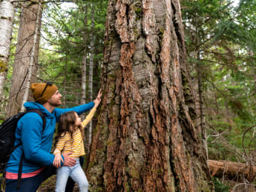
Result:
<svg viewBox="0 0 256 192"><path fill-rule="evenodd" d="M38 0L37 0L38 1ZM24 2L19 22L18 44L16 46L16 55L13 66L13 78L11 82L10 96L12 96L7 105L7 117L16 114L22 107L22 97L25 93L25 85L28 81L28 66L32 57L34 45L34 34L37 22L37 13L39 13L38 31L40 31L42 7L39 4ZM40 32L37 33L37 43L34 50L34 64L37 66L38 51L40 42ZM33 67L31 82L36 81L37 67ZM17 78L19 77L19 78ZM29 96L28 101L32 98Z"/></svg>

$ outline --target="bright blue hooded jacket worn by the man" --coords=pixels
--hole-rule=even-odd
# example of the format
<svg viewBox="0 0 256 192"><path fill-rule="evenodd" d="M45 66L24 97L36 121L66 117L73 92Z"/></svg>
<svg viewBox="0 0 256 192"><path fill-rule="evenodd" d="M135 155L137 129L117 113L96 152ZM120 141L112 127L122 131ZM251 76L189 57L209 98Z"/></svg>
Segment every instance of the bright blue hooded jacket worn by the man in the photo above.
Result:
<svg viewBox="0 0 256 192"><path fill-rule="evenodd" d="M77 114L82 114L93 108L94 102L74 108L55 108L52 114L37 102L26 102L24 106L27 110L40 109L46 116L46 128L43 130L42 118L39 114L33 112L25 114L19 120L15 133L15 146L20 142L22 145L18 146L10 155L10 160L6 167L6 171L10 173L18 173L22 151L25 157L22 164L22 173L31 173L43 166L52 165L54 155L50 151L52 149L55 123L58 122L58 118L67 111L76 111Z"/></svg>

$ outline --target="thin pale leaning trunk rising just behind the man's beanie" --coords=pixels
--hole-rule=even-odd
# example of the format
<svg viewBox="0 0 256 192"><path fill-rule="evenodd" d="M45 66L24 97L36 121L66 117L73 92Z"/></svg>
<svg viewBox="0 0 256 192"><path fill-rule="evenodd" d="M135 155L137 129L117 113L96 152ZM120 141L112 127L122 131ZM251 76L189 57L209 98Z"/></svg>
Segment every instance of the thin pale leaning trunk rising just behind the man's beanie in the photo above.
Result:
<svg viewBox="0 0 256 192"><path fill-rule="evenodd" d="M30 84L31 84L31 76L32 76L32 71L33 68L35 66L35 62L34 62L34 55L35 55L35 49L37 46L37 38L39 38L40 36L38 35L38 28L39 28L39 19L40 19L40 13L42 13L41 11L41 0L39 0L39 4L38 4L38 10L37 10L37 21L36 21L36 25L35 25L35 29L34 29L34 40L33 40L33 45L32 45L32 50L31 50L31 55L30 55L30 61L29 61L29 66L28 66L28 76L27 76L27 82L25 85L25 93L22 99L22 108L21 111L25 111L25 107L24 107L24 103L28 101L28 91L30 88Z"/></svg>

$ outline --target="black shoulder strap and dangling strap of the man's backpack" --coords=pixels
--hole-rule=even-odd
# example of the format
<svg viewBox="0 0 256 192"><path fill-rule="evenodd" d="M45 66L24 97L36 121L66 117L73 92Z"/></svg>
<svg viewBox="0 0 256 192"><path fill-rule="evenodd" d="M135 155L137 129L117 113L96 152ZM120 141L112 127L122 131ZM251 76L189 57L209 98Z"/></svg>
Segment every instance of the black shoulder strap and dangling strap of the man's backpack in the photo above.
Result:
<svg viewBox="0 0 256 192"><path fill-rule="evenodd" d="M37 108L28 110L28 111L25 112L25 114L31 113L31 112L34 112L34 113L39 114L40 117L42 118L42 120L43 120L43 130L42 130L42 132L43 132L43 131L44 131L44 128L46 128L46 117L45 117L45 115L43 114L42 111L40 111L40 109L37 109ZM20 145L21 145L21 143L19 143L19 145L17 145L17 146L20 146ZM21 184L21 175L22 175L22 162L23 162L23 158L24 158L24 152L22 152L22 155L21 155L20 161L19 161L19 171L18 171L18 180L17 180L16 190L19 190L20 184Z"/></svg>

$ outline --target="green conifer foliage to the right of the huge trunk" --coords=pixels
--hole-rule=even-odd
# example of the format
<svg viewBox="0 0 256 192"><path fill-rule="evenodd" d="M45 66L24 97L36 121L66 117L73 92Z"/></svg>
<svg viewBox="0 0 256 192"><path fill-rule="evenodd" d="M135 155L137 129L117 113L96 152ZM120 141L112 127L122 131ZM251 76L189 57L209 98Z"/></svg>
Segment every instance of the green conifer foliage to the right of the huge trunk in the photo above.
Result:
<svg viewBox="0 0 256 192"><path fill-rule="evenodd" d="M243 132L255 125L256 4L231 3L181 1L181 7L192 76L202 81L209 157L237 161L223 140L243 152ZM248 152L256 144L252 137L249 131Z"/></svg>

